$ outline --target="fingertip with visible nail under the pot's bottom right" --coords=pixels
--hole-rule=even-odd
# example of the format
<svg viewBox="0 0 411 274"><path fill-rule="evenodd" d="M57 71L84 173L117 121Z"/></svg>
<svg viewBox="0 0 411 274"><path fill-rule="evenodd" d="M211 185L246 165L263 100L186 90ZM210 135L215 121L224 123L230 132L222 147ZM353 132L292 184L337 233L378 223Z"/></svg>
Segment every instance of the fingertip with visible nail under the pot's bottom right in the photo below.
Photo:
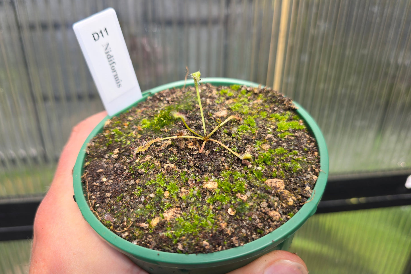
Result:
<svg viewBox="0 0 411 274"><path fill-rule="evenodd" d="M275 250L229 274L308 274L308 270L296 254Z"/></svg>

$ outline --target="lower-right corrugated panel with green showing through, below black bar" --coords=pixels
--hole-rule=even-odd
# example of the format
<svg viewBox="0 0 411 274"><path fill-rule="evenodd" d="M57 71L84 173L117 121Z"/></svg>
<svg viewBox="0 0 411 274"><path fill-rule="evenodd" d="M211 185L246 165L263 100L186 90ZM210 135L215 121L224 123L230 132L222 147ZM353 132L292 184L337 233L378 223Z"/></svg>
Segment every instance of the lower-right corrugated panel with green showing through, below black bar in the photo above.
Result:
<svg viewBox="0 0 411 274"><path fill-rule="evenodd" d="M411 207L314 215L296 233L292 252L310 273L407 274Z"/></svg>

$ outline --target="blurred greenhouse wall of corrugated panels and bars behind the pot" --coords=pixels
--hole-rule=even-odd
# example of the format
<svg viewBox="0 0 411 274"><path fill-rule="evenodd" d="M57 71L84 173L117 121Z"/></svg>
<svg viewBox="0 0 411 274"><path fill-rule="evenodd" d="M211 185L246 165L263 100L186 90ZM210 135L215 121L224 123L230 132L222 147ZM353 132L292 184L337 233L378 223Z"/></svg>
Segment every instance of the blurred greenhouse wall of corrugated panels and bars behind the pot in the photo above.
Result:
<svg viewBox="0 0 411 274"><path fill-rule="evenodd" d="M0 0L0 272L26 273L32 221L72 127L103 110L72 24L113 7L144 91L232 77L271 86L330 154L291 251L312 273L411 273L410 0Z"/></svg>

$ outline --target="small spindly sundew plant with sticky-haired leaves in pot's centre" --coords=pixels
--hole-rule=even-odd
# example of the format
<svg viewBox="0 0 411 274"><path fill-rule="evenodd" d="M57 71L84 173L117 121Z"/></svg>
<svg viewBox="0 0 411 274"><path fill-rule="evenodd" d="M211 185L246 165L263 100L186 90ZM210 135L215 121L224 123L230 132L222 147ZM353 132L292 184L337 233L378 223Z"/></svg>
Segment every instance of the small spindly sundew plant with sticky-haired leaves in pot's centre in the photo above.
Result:
<svg viewBox="0 0 411 274"><path fill-rule="evenodd" d="M192 132L193 134L197 135L197 136L189 136L189 135L183 135L182 133L176 135L176 136L171 136L171 137L163 137L163 138L155 138L150 140L149 142L147 142L147 144L142 145L137 147L134 150L133 156L136 156L136 153L139 152L143 152L146 151L152 144L154 144L155 142L159 142L159 141L163 141L163 140L167 140L167 139L175 139L175 138L186 138L186 139L200 139L203 140L203 144L199 150L199 153L202 153L204 150L204 146L205 143L207 143L208 141L212 141L212 142L216 142L217 144L221 145L222 147L224 147L226 150L230 151L231 153L233 153L235 156L237 156L238 158L240 158L241 160L244 159L251 159L252 156L250 153L243 153L242 155L238 154L237 152L233 151L232 149L230 149L228 146L226 146L225 144L223 144L222 142L216 140L216 139L211 139L211 135L213 135L214 132L216 132L222 125L224 125L225 123L227 123L228 121L232 120L232 119L236 119L238 121L242 121L242 119L239 116L236 115L231 115L228 118L226 118L223 122L221 121L221 119L217 118L217 123L218 125L209 133L207 134L206 130L205 130L205 122L204 122L204 114L203 114L203 107L201 106L201 98L200 98L200 91L199 91L199 81L201 81L201 73L200 71L198 72L194 72L191 74L191 77L194 80L194 86L196 88L196 93L197 93L197 99L199 102L199 107L200 107L200 113L201 113L201 121L203 123L203 130L204 130L204 135L200 135L199 133L195 132L194 130L192 130L186 122L186 117L177 111L173 111L172 115L175 118L180 118L182 120L182 122L184 123L185 127Z"/></svg>

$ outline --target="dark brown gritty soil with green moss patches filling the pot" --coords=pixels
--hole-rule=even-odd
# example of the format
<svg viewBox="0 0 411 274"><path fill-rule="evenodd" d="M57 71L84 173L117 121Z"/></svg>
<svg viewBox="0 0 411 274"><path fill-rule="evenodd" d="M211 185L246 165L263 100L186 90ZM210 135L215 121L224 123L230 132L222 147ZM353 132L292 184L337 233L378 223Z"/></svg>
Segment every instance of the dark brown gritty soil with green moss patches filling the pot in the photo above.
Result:
<svg viewBox="0 0 411 274"><path fill-rule="evenodd" d="M208 253L246 244L275 230L311 196L319 174L314 138L291 100L266 88L203 84L207 134L216 142L199 153L199 139L167 139L145 153L133 149L158 137L200 135L194 87L171 89L106 122L88 145L83 183L107 228L158 251Z"/></svg>

